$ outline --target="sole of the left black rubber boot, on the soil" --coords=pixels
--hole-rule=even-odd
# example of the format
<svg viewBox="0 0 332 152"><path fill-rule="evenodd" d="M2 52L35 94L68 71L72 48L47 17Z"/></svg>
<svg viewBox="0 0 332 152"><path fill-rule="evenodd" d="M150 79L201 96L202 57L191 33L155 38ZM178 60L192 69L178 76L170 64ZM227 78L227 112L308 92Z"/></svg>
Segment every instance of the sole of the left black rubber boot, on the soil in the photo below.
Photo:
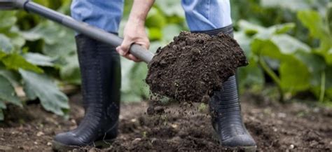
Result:
<svg viewBox="0 0 332 152"><path fill-rule="evenodd" d="M92 147L96 148L109 148L111 144L113 143L114 139L109 140L99 140L95 141L94 143L90 144ZM52 141L52 149L53 151L72 151L75 148L83 148L84 146L71 146L67 144L62 144L58 141Z"/></svg>

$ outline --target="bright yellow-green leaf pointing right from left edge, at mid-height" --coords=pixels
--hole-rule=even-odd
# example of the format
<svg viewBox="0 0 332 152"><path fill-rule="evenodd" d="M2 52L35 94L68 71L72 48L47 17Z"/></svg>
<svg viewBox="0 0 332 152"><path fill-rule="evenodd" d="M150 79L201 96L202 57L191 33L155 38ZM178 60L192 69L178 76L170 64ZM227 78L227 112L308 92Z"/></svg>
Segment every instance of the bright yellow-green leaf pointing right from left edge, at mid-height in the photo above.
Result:
<svg viewBox="0 0 332 152"><path fill-rule="evenodd" d="M27 62L27 60L25 60L24 57L16 53L6 55L1 59L1 61L5 64L5 66L8 69L18 70L19 68L22 68L22 69L35 71L37 73L43 73L43 69L35 66L34 64Z"/></svg>

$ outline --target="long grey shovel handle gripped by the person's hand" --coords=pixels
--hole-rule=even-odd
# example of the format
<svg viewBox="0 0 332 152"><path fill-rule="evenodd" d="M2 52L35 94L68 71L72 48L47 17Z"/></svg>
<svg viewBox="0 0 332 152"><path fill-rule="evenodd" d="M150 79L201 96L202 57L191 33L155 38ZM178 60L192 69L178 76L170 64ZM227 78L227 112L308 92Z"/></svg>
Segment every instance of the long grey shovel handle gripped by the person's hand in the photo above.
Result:
<svg viewBox="0 0 332 152"><path fill-rule="evenodd" d="M64 15L62 13L58 13L57 11L53 11L49 8L36 4L29 0L0 0L0 10L14 10L14 9L23 9L27 12L35 13L37 15L41 15L44 18L49 20L53 20L54 22L58 22L64 27L69 27L69 29L74 29L76 32L85 34L92 39L96 39L98 41L102 41L111 46L120 46L123 39L116 36L115 34L111 34L97 27L92 27L91 25L86 24L85 22L79 22L69 17L68 15ZM132 44L129 52L140 60L148 63L152 60L153 53L146 50L142 46L137 44Z"/></svg>

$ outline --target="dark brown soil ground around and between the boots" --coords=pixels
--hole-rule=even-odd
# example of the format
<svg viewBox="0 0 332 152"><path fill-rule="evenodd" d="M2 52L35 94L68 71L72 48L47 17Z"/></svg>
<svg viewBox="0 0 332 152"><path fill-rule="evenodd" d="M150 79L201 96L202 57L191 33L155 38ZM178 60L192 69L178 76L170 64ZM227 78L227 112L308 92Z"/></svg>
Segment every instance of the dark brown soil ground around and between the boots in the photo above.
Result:
<svg viewBox="0 0 332 152"><path fill-rule="evenodd" d="M0 151L51 151L53 136L80 122L80 100L81 95L71 97L69 120L43 111L39 104L29 104L25 110L8 106L6 121L0 123ZM244 123L258 151L332 150L332 109L281 105L251 94L242 95L242 101ZM223 147L213 138L208 107L202 105L184 102L148 109L146 102L123 104L120 134L102 151L219 151ZM101 150L85 147L75 151Z"/></svg>

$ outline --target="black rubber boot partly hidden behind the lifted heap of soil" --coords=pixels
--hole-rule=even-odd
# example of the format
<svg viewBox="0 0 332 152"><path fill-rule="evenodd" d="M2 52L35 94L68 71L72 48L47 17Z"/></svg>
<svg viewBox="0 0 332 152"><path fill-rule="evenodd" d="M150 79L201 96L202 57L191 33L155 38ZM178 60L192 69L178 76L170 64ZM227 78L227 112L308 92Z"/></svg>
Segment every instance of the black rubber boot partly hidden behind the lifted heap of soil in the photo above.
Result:
<svg viewBox="0 0 332 152"><path fill-rule="evenodd" d="M202 33L212 36L219 34L219 32L233 36L233 27L230 25ZM223 83L223 88L220 91L214 92L209 104L212 125L221 145L247 151L256 151L256 142L242 121L235 76L228 78L228 81Z"/></svg>

